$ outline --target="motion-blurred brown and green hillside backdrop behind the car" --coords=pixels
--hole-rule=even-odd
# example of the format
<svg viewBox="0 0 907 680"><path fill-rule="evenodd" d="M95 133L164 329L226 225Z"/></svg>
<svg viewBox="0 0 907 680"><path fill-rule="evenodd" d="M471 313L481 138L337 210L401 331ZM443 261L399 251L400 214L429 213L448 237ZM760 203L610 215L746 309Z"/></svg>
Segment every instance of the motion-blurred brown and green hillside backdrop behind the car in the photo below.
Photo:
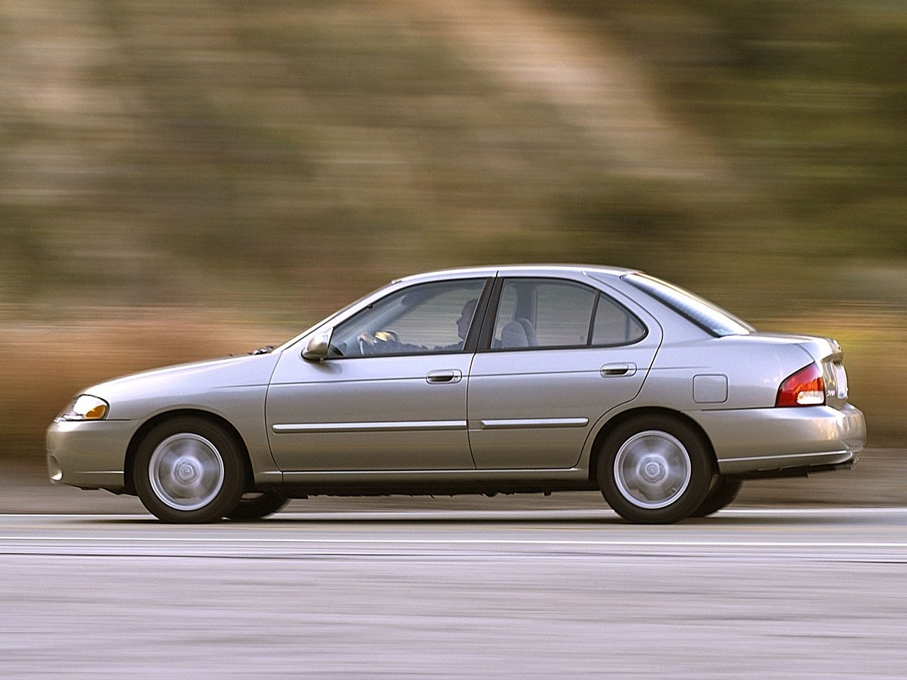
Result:
<svg viewBox="0 0 907 680"><path fill-rule="evenodd" d="M834 335L907 435L901 0L0 3L0 459L88 384L436 267L640 267Z"/></svg>

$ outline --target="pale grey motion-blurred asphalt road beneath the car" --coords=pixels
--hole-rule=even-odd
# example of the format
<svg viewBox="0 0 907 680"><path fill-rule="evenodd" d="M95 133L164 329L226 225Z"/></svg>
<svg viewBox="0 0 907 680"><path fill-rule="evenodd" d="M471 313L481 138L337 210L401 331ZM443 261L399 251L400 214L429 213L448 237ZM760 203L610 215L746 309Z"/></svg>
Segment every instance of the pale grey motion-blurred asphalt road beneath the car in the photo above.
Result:
<svg viewBox="0 0 907 680"><path fill-rule="evenodd" d="M0 515L0 677L903 678L907 509Z"/></svg>

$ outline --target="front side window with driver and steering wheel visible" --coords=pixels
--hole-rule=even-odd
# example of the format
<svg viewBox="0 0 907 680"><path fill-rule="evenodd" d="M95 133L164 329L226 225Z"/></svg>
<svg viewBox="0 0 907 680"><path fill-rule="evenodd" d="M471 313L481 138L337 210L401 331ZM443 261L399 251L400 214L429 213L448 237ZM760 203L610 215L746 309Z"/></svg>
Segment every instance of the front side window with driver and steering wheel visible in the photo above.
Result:
<svg viewBox="0 0 907 680"><path fill-rule="evenodd" d="M338 325L328 356L462 352L484 285L463 279L392 293Z"/></svg>

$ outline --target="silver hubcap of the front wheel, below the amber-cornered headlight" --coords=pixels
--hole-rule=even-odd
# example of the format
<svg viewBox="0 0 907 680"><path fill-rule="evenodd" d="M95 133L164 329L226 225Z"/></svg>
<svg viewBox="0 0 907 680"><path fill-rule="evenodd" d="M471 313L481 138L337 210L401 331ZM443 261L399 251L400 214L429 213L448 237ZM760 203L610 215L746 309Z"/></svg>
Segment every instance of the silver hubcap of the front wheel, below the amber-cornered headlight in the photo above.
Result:
<svg viewBox="0 0 907 680"><path fill-rule="evenodd" d="M220 452L204 437L192 432L171 434L158 444L148 463L151 489L176 510L204 508L224 483Z"/></svg>

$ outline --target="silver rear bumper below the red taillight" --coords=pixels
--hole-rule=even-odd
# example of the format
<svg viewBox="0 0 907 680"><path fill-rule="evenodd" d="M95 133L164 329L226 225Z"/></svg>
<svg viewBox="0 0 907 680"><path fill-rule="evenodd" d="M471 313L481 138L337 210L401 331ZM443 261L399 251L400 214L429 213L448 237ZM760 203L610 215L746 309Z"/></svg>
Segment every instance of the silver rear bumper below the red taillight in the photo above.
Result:
<svg viewBox="0 0 907 680"><path fill-rule="evenodd" d="M722 474L853 466L866 443L863 412L850 404L690 415L711 438Z"/></svg>

